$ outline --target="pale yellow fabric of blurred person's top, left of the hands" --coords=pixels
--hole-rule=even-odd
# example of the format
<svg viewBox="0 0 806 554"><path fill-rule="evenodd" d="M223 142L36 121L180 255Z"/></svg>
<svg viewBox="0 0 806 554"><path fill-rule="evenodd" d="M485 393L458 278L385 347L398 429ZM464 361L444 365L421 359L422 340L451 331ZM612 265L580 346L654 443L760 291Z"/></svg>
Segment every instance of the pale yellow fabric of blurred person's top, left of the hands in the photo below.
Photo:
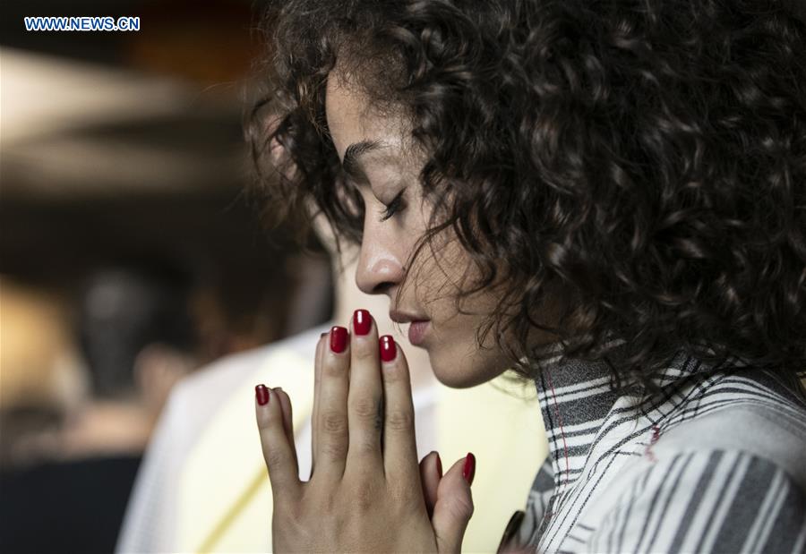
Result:
<svg viewBox="0 0 806 554"><path fill-rule="evenodd" d="M254 416L254 386L282 387L292 399L294 430L313 411L313 359L278 348L258 371L222 398L204 435L187 457L179 487L177 550L184 552L258 552L271 544L271 493ZM253 483L262 478L262 486ZM251 493L251 494L250 494ZM245 502L243 501L243 497ZM238 504L226 528L222 521Z"/></svg>

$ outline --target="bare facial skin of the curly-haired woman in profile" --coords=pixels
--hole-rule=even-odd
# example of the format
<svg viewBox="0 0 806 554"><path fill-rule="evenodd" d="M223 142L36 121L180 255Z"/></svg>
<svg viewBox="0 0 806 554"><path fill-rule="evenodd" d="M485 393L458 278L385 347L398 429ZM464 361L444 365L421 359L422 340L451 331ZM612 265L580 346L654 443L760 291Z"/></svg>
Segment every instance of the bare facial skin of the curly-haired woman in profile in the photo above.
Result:
<svg viewBox="0 0 806 554"><path fill-rule="evenodd" d="M430 320L422 347L434 375L452 388L473 387L500 375L507 360L492 334L482 348L476 328L493 311L494 291L474 294L456 305L461 279L474 276L465 251L451 236L439 237L437 257L426 246L410 266L416 241L424 234L432 208L424 200L419 171L424 160L407 141L409 128L401 116L379 114L362 91L340 74L331 73L326 105L328 126L342 160L347 147L361 141L379 144L357 158L360 177L354 184L364 199L364 242L356 283L366 294L387 294L390 310ZM382 212L403 190L403 209L385 221ZM400 290L402 289L402 290Z"/></svg>

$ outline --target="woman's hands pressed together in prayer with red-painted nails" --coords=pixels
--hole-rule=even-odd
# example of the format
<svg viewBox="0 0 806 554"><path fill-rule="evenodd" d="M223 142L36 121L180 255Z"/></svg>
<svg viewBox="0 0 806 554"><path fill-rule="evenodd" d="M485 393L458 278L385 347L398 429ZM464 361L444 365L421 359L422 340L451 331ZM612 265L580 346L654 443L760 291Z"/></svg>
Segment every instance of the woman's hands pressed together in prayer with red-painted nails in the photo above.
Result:
<svg viewBox="0 0 806 554"><path fill-rule="evenodd" d="M468 455L444 475L438 455L417 464L406 357L391 337L379 345L366 311L351 331L334 327L316 347L309 481L299 479L289 397L256 390L273 550L459 552L475 461Z"/></svg>

